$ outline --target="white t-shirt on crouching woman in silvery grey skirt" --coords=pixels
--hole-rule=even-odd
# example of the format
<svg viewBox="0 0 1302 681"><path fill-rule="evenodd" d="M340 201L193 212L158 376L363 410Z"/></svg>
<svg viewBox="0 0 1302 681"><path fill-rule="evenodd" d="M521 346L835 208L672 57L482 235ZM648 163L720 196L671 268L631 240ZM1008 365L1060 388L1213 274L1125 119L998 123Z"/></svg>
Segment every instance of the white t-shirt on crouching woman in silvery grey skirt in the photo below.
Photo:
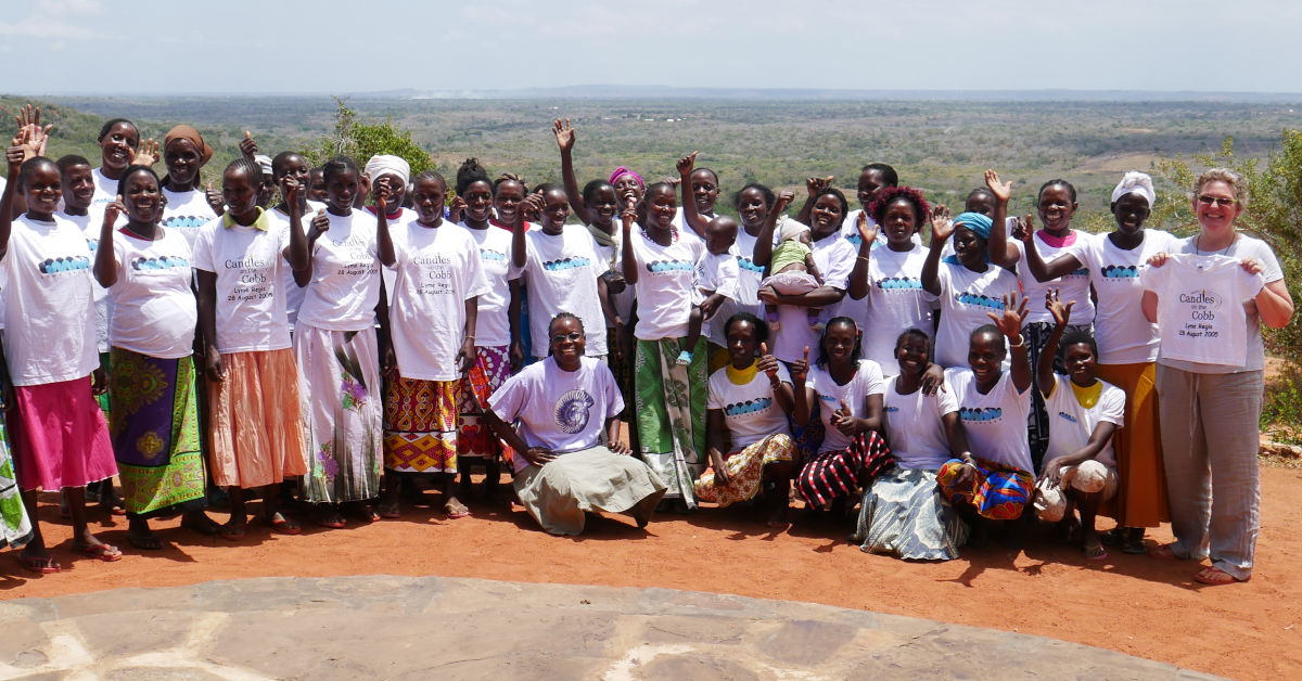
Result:
<svg viewBox="0 0 1302 681"><path fill-rule="evenodd" d="M901 395L900 376L887 379L885 405L887 443L902 469L939 469L953 458L943 417L958 411L958 400L949 385L927 396L922 389Z"/></svg>

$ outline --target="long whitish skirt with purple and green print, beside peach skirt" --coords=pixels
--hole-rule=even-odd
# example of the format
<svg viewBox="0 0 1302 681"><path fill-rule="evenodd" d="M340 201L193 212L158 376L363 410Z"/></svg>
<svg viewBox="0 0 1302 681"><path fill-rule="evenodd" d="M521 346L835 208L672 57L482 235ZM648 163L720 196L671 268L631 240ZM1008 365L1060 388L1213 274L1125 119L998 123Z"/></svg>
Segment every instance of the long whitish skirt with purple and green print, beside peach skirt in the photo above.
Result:
<svg viewBox="0 0 1302 681"><path fill-rule="evenodd" d="M305 499L329 504L379 496L384 417L375 327L329 331L299 319L294 358L307 422Z"/></svg>

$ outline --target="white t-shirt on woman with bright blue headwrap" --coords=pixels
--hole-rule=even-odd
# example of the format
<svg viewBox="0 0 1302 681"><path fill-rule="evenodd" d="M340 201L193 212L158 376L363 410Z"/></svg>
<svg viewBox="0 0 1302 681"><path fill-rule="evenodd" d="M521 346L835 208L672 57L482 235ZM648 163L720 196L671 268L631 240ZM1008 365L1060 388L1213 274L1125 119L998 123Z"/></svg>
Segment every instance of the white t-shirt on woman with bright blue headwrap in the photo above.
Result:
<svg viewBox="0 0 1302 681"><path fill-rule="evenodd" d="M965 367L969 336L976 327L992 323L987 313L1004 311L1004 296L1018 290L1017 277L995 264L987 266L984 272L973 272L962 264L944 260L937 275L940 326L936 327L936 363L947 368Z"/></svg>

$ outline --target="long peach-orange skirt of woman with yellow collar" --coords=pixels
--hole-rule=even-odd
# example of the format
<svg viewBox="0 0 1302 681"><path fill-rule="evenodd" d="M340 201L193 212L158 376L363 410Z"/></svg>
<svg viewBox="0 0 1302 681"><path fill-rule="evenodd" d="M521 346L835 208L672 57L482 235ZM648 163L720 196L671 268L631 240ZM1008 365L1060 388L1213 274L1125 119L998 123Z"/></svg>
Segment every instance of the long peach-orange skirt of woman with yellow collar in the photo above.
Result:
<svg viewBox="0 0 1302 681"><path fill-rule="evenodd" d="M251 490L307 474L307 432L294 352L221 355L224 380L206 382L208 462L221 487Z"/></svg>

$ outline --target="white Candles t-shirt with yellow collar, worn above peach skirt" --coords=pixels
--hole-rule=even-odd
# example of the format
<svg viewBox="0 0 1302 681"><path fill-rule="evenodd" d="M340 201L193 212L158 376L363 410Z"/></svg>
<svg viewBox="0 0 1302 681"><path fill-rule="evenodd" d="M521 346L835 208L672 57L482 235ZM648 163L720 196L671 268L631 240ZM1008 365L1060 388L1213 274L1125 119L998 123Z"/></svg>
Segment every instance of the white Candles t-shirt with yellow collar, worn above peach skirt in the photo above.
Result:
<svg viewBox="0 0 1302 681"><path fill-rule="evenodd" d="M266 232L241 224L224 227L217 217L194 240L194 268L217 275L215 319L217 352L223 354L289 348L289 263L284 257L289 230L273 225L270 216L264 223Z"/></svg>

